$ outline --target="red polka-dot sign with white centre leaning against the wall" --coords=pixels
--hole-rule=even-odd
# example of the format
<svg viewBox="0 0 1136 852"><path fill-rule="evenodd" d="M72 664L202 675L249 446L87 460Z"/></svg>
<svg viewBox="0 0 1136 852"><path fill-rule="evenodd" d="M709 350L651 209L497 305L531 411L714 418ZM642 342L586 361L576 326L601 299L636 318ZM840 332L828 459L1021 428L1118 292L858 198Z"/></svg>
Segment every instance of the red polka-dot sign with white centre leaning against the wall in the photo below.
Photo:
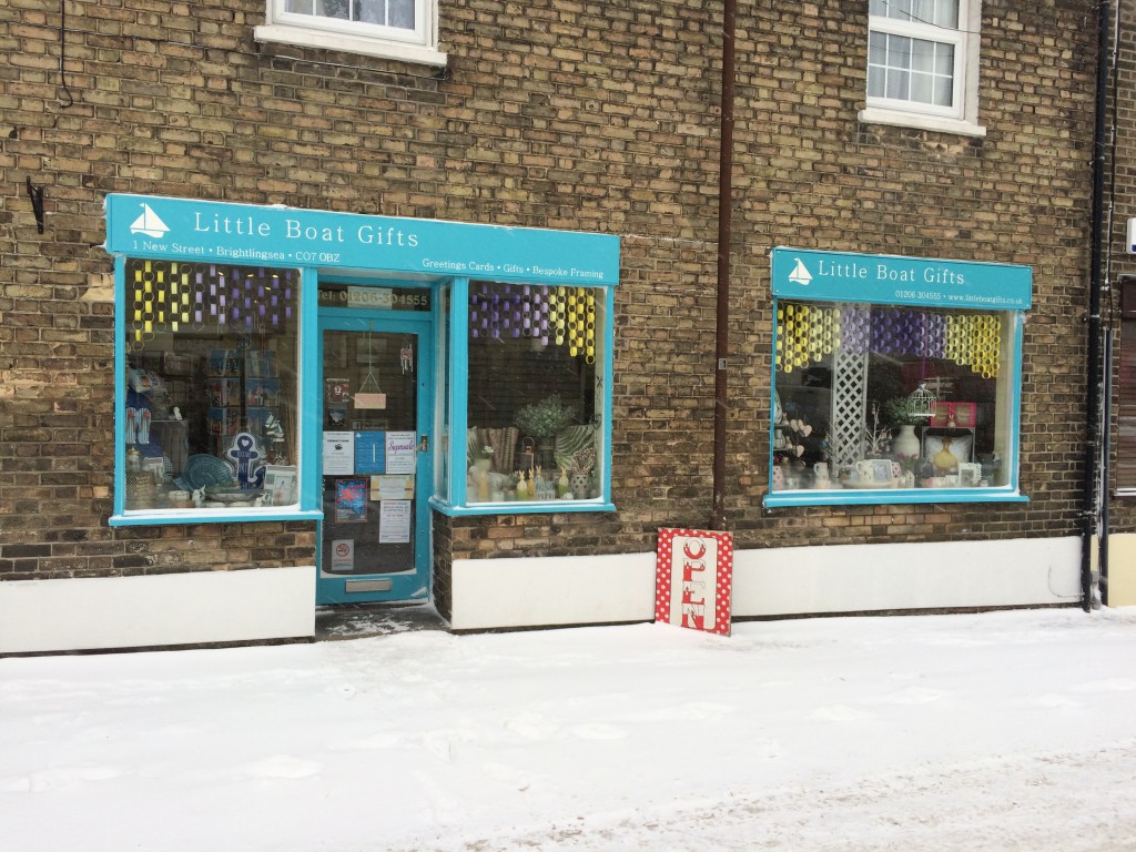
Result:
<svg viewBox="0 0 1136 852"><path fill-rule="evenodd" d="M660 529L654 620L728 636L734 588L729 533Z"/></svg>

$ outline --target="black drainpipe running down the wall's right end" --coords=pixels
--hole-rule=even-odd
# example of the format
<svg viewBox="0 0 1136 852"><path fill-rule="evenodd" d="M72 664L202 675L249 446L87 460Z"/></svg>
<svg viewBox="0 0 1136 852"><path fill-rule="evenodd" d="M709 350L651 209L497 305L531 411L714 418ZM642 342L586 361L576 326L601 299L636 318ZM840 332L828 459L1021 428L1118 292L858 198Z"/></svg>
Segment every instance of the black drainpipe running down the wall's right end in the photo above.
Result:
<svg viewBox="0 0 1136 852"><path fill-rule="evenodd" d="M1094 607L1093 537L1097 521L1097 496L1101 483L1097 460L1101 451L1101 289L1102 244L1104 240L1104 166L1106 111L1109 103L1109 7L1102 2L1097 12L1096 58L1096 128L1093 134L1093 234L1092 268L1088 291L1088 357L1086 389L1086 429L1088 445L1085 450L1084 508L1081 509L1080 544L1080 605L1085 612ZM1111 365L1109 365L1111 368Z"/></svg>

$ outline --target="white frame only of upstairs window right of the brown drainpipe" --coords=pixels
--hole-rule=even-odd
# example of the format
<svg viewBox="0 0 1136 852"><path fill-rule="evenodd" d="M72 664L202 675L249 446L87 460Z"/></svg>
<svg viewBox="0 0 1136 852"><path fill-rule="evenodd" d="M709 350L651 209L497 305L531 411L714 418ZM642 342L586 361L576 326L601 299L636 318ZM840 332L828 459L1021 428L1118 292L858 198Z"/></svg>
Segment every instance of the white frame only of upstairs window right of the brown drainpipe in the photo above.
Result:
<svg viewBox="0 0 1136 852"><path fill-rule="evenodd" d="M860 111L860 120L866 124L889 124L985 136L986 128L978 124L980 27L982 0L959 0L958 30L870 15L869 37L871 33L886 33L954 47L953 106L944 108L918 101L866 95L866 107ZM867 77L864 85L867 86Z"/></svg>

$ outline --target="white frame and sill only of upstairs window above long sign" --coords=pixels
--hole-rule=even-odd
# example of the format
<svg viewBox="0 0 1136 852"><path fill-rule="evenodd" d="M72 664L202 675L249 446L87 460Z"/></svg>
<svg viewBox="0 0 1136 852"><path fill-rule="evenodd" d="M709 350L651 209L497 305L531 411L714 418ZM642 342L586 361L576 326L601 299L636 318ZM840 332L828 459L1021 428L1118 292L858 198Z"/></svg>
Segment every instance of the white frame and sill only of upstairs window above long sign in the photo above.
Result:
<svg viewBox="0 0 1136 852"><path fill-rule="evenodd" d="M258 42L323 48L445 67L438 50L438 0L415 0L415 30L340 20L285 11L285 0L267 0L265 24L253 30Z"/></svg>

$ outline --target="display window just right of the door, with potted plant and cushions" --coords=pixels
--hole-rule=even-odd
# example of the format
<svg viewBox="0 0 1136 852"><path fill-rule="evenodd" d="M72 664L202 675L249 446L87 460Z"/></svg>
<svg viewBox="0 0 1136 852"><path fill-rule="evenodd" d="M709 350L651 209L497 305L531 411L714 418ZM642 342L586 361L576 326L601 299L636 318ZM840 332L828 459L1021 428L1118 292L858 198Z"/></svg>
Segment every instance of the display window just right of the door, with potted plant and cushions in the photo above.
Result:
<svg viewBox="0 0 1136 852"><path fill-rule="evenodd" d="M609 292L469 283L465 440L451 456L465 473L463 490L450 483L457 503L607 508Z"/></svg>

